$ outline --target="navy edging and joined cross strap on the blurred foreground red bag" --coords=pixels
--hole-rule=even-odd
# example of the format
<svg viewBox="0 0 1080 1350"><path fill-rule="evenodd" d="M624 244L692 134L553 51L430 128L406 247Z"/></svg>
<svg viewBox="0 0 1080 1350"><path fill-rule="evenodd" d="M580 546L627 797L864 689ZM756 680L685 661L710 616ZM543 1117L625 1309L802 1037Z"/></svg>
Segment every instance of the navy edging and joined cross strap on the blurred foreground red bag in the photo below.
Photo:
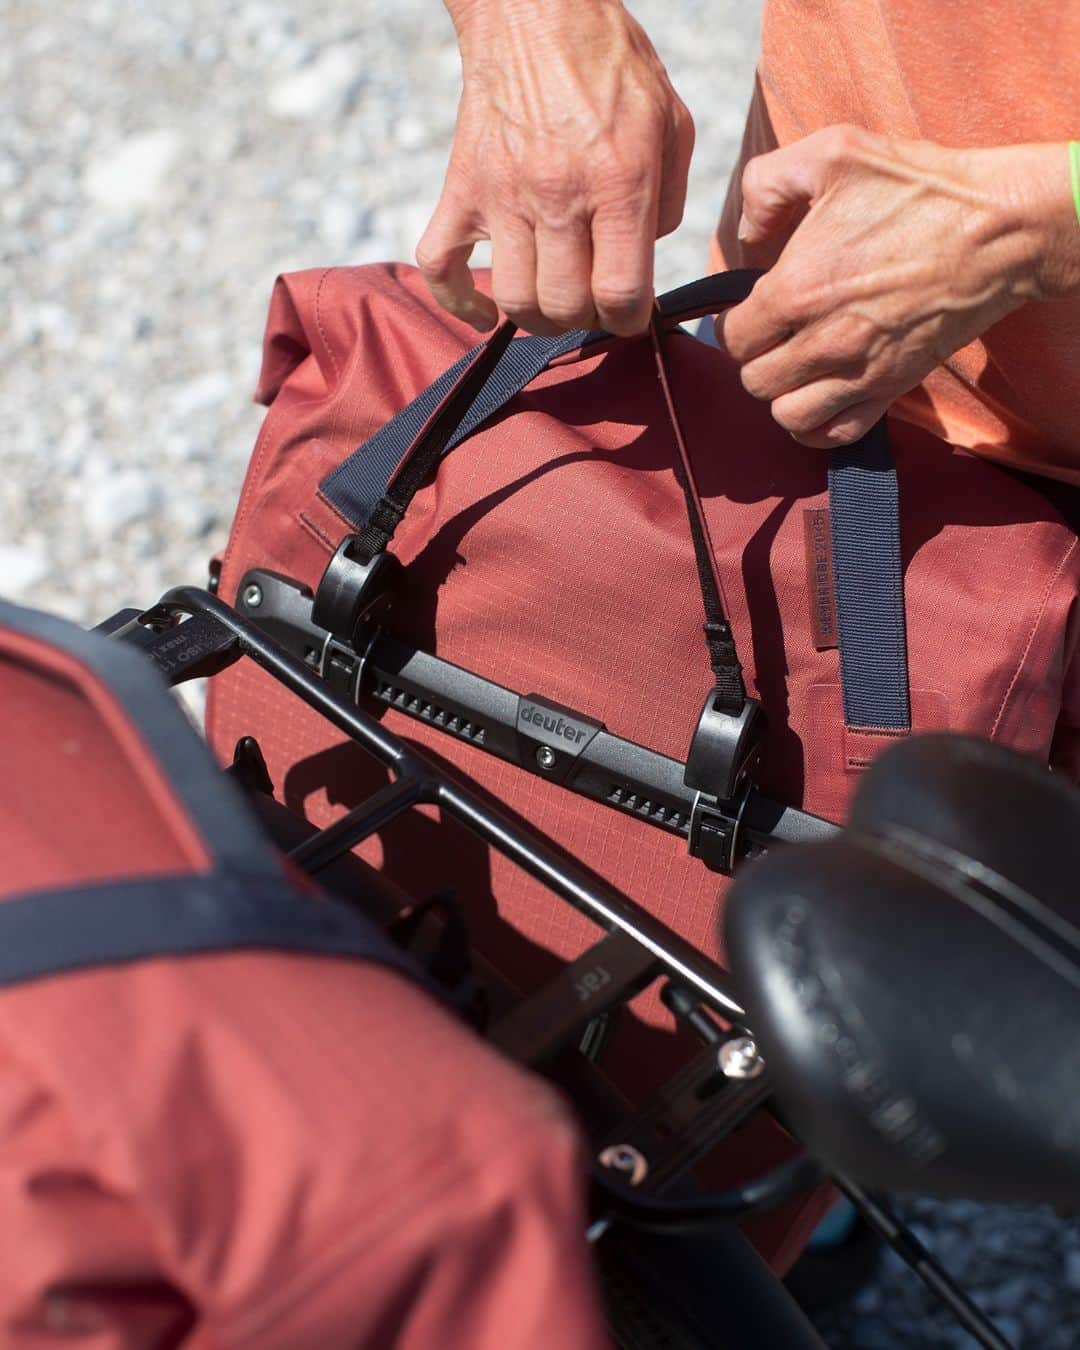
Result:
<svg viewBox="0 0 1080 1350"><path fill-rule="evenodd" d="M108 687L212 859L205 872L4 899L0 987L155 956L262 948L378 961L435 991L408 953L359 911L293 884L247 802L140 652L3 601L0 629L28 637L43 652L66 652Z"/></svg>

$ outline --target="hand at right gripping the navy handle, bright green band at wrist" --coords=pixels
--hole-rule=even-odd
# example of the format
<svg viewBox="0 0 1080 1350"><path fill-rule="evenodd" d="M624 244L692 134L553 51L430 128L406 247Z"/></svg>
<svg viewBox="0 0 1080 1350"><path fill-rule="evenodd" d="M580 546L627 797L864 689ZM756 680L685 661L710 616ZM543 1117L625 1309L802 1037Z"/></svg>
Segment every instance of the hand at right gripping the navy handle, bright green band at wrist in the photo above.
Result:
<svg viewBox="0 0 1080 1350"><path fill-rule="evenodd" d="M806 446L857 440L1010 310L1080 282L1064 144L948 150L829 127L752 159L742 201L741 240L790 238L717 335Z"/></svg>

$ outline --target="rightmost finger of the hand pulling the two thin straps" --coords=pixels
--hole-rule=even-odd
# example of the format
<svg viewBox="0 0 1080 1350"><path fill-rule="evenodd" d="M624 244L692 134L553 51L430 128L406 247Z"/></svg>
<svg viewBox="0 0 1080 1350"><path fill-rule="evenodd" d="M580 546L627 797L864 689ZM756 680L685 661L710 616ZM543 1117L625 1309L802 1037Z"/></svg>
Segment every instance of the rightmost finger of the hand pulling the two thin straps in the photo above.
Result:
<svg viewBox="0 0 1080 1350"><path fill-rule="evenodd" d="M636 204L599 207L593 215L593 304L601 327L624 338L649 325L656 212L653 189Z"/></svg>

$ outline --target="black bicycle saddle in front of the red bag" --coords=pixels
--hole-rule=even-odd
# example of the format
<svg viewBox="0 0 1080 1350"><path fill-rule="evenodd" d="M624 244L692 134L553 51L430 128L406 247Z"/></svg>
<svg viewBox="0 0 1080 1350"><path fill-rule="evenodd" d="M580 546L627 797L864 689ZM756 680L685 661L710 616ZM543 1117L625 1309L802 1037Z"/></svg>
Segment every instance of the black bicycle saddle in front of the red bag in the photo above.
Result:
<svg viewBox="0 0 1080 1350"><path fill-rule="evenodd" d="M1080 1203L1080 792L925 736L844 833L732 888L725 938L790 1127L864 1185Z"/></svg>

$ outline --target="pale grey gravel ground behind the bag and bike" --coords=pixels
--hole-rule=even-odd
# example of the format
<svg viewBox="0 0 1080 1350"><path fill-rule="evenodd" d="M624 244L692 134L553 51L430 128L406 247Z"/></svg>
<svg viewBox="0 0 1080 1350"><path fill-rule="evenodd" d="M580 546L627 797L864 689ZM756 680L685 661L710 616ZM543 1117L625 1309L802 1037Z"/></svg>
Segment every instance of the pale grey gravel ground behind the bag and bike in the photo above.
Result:
<svg viewBox="0 0 1080 1350"><path fill-rule="evenodd" d="M759 5L632 8L698 124L666 288L705 258ZM437 0L0 0L0 589L90 622L204 576L258 425L273 278L412 256L458 59ZM1080 1343L1075 1222L906 1212L1018 1345ZM852 1350L972 1343L891 1258L822 1327Z"/></svg>

